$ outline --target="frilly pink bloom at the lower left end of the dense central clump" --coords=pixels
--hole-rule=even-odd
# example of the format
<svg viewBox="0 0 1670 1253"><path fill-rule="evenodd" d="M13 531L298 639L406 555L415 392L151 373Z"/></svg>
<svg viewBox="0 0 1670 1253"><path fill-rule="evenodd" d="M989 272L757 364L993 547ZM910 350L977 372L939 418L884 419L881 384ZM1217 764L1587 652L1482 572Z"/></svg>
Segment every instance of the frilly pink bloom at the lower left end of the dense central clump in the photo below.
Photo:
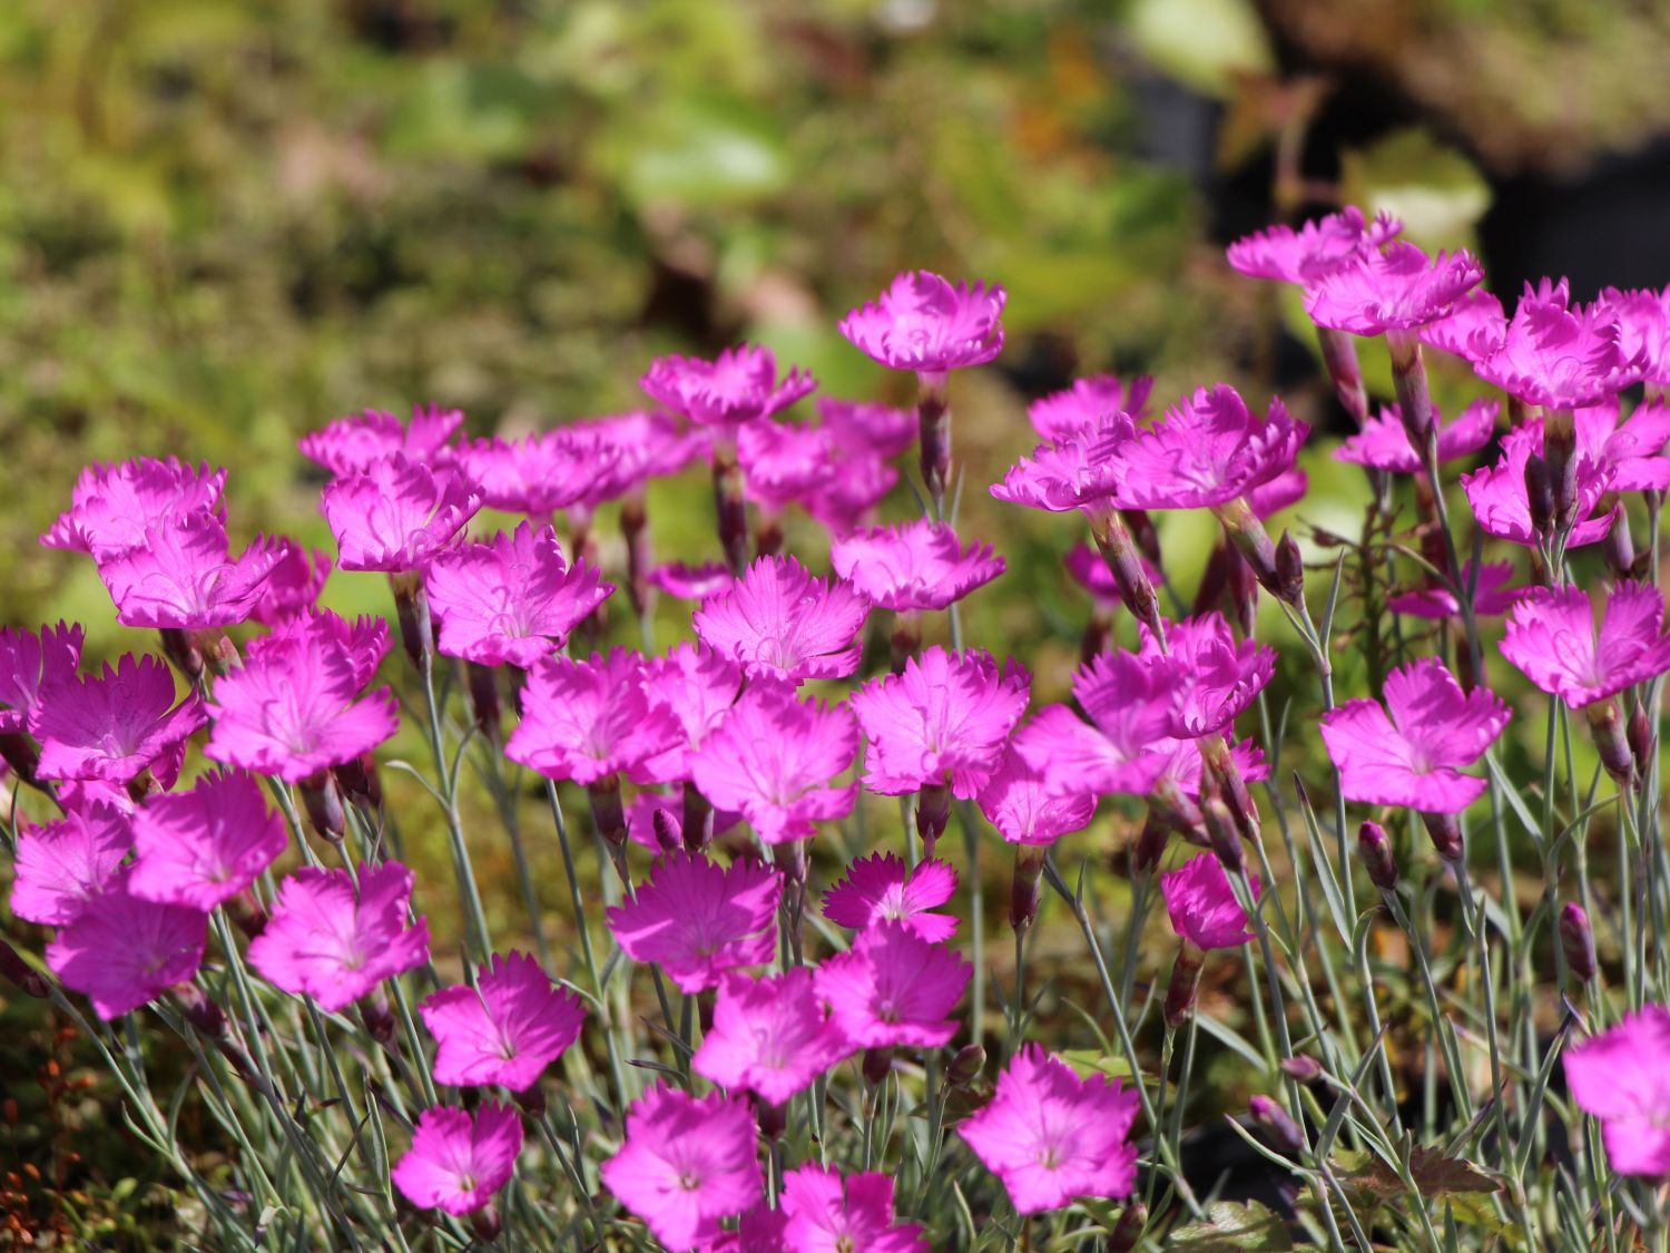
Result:
<svg viewBox="0 0 1670 1253"><path fill-rule="evenodd" d="M678 722L650 702L643 658L628 648L590 662L548 657L523 688L523 718L504 755L546 779L595 784L681 738Z"/></svg>

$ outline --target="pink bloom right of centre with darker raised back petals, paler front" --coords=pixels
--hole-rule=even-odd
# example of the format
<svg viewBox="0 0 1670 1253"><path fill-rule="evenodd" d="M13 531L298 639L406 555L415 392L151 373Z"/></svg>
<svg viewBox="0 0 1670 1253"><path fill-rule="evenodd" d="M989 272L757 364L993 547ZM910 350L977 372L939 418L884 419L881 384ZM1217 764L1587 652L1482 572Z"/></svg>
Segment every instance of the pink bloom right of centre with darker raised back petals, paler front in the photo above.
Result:
<svg viewBox="0 0 1670 1253"><path fill-rule="evenodd" d="M1102 653L1079 668L1072 692L1091 722L1049 705L1015 735L1015 752L1065 794L1146 794L1166 769L1161 748L1177 718L1177 667Z"/></svg>

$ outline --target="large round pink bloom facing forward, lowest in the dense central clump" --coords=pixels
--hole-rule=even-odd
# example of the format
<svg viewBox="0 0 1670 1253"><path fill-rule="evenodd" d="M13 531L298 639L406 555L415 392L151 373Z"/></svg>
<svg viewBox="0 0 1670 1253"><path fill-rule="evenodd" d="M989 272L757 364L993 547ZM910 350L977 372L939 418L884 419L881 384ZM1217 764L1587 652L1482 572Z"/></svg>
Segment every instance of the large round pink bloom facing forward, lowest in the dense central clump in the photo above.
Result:
<svg viewBox="0 0 1670 1253"><path fill-rule="evenodd" d="M787 844L852 812L858 785L835 785L835 777L857 752L858 727L847 708L755 683L686 763L716 809L741 814L763 844Z"/></svg>

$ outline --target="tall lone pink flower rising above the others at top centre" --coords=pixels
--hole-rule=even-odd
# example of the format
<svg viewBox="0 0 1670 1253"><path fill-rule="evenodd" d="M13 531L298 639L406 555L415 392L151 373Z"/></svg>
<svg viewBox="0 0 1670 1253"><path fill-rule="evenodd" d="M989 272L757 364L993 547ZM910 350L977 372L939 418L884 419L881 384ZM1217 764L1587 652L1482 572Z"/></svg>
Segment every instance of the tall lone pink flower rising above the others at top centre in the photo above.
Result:
<svg viewBox="0 0 1670 1253"><path fill-rule="evenodd" d="M944 374L1004 351L1004 289L952 286L939 274L900 274L873 304L840 319L853 347L890 369Z"/></svg>

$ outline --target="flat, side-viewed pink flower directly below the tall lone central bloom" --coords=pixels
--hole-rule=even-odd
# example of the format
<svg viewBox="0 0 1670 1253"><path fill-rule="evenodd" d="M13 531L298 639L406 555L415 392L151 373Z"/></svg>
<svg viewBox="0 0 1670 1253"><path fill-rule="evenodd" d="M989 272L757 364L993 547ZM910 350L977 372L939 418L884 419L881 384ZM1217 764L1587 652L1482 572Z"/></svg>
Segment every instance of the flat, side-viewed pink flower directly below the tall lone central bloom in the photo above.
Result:
<svg viewBox="0 0 1670 1253"><path fill-rule="evenodd" d="M895 613L942 610L1004 573L990 545L964 548L947 523L929 518L855 531L830 548L830 563L860 596Z"/></svg>

